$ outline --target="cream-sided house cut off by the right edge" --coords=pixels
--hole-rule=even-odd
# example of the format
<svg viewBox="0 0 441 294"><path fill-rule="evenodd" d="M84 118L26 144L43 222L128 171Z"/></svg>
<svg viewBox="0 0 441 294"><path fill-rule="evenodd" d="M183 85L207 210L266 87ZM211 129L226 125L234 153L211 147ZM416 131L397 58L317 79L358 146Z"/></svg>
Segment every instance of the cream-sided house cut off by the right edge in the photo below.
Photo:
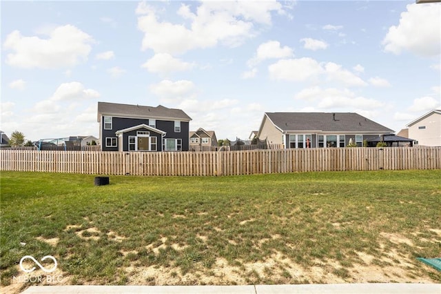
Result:
<svg viewBox="0 0 441 294"><path fill-rule="evenodd" d="M441 146L441 110L431 110L407 125L408 136L422 146ZM404 134L404 131L402 131ZM400 132L401 133L401 132Z"/></svg>

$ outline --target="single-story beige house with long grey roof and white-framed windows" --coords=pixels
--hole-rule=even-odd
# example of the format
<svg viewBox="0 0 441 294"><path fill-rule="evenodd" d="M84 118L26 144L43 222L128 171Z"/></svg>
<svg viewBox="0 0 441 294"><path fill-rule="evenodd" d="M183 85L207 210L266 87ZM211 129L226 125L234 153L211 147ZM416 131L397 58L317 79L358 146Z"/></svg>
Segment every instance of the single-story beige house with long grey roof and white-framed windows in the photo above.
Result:
<svg viewBox="0 0 441 294"><path fill-rule="evenodd" d="M354 112L265 112L257 137L284 148L340 148L390 133Z"/></svg>

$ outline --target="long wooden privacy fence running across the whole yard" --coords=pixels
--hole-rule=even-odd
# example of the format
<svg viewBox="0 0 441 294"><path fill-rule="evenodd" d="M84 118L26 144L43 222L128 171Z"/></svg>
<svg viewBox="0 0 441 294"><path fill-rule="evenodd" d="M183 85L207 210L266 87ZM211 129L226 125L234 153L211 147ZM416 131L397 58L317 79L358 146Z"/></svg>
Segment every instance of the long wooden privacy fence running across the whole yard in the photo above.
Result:
<svg viewBox="0 0 441 294"><path fill-rule="evenodd" d="M94 175L251 175L440 169L441 148L311 148L225 152L0 150L0 170Z"/></svg>

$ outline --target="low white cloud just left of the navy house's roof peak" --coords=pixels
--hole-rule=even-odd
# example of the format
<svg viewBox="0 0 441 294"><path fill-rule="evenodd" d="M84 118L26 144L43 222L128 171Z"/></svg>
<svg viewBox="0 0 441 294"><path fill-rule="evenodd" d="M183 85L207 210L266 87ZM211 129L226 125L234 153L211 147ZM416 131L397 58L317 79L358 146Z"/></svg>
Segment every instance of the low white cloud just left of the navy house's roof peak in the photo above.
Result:
<svg viewBox="0 0 441 294"><path fill-rule="evenodd" d="M100 97L99 92L93 89L84 88L83 84L78 81L72 81L70 83L61 84L57 90L55 90L51 101L66 101L66 100L79 100L79 99L94 99Z"/></svg>

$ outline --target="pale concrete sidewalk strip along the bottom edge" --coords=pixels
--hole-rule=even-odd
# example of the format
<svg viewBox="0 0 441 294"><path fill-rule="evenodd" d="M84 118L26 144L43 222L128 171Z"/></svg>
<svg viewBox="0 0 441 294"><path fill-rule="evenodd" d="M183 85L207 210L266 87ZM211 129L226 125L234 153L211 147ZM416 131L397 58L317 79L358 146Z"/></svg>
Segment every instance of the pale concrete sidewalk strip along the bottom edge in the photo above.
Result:
<svg viewBox="0 0 441 294"><path fill-rule="evenodd" d="M46 294L441 294L441 284L304 284L247 286L30 286L22 293Z"/></svg>

